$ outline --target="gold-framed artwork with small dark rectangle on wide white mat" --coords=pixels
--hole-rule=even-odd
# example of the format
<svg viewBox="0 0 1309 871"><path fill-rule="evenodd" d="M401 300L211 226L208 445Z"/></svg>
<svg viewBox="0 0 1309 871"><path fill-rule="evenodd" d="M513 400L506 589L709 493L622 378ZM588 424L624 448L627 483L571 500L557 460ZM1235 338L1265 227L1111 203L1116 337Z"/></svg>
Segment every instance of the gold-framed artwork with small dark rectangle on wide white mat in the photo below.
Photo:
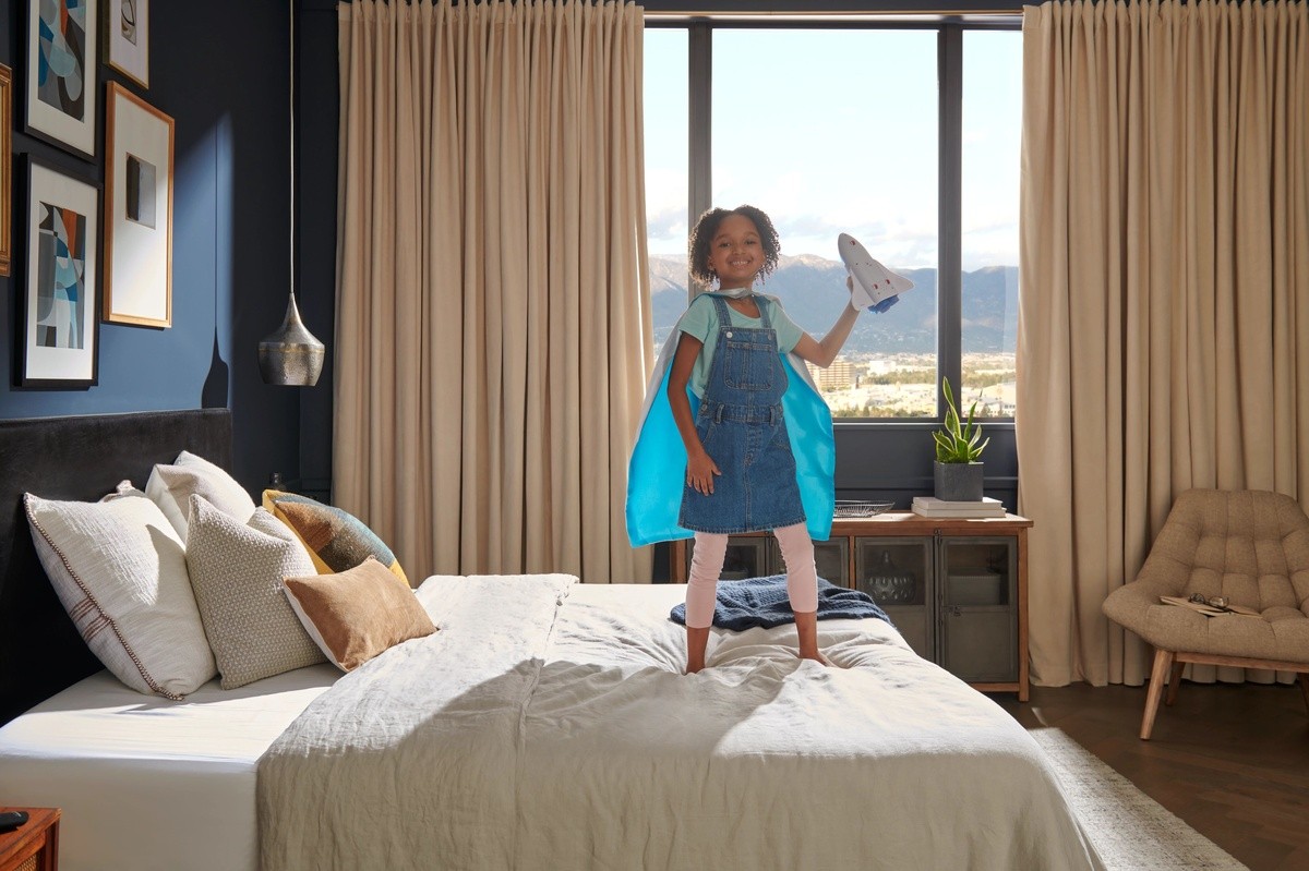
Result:
<svg viewBox="0 0 1309 871"><path fill-rule="evenodd" d="M173 119L105 86L105 320L173 326Z"/></svg>

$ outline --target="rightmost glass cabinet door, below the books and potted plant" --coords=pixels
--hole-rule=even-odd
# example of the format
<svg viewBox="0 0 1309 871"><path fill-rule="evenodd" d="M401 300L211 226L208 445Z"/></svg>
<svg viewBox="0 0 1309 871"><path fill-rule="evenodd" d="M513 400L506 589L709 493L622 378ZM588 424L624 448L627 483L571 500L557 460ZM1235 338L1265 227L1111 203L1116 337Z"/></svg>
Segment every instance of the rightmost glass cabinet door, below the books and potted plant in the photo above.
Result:
<svg viewBox="0 0 1309 871"><path fill-rule="evenodd" d="M971 683L1018 679L1018 555L1012 538L944 538L939 662Z"/></svg>

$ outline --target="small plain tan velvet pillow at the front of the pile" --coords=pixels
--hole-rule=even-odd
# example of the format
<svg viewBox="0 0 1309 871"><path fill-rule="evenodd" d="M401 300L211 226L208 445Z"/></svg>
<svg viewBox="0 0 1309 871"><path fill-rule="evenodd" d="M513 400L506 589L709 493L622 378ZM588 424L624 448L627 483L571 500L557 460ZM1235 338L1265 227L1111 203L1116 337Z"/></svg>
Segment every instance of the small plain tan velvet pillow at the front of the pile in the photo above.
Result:
<svg viewBox="0 0 1309 871"><path fill-rule="evenodd" d="M283 583L305 632L342 671L436 632L410 586L373 557L346 572Z"/></svg>

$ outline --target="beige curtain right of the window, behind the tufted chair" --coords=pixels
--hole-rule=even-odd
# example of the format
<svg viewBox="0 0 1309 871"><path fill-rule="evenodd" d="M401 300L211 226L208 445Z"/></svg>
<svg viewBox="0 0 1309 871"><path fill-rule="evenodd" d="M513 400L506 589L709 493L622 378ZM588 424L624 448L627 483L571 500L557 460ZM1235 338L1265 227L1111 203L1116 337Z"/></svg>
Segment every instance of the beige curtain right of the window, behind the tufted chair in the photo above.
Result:
<svg viewBox="0 0 1309 871"><path fill-rule="evenodd" d="M1140 684L1100 606L1173 498L1309 500L1309 10L1046 3L1022 31L1033 680Z"/></svg>

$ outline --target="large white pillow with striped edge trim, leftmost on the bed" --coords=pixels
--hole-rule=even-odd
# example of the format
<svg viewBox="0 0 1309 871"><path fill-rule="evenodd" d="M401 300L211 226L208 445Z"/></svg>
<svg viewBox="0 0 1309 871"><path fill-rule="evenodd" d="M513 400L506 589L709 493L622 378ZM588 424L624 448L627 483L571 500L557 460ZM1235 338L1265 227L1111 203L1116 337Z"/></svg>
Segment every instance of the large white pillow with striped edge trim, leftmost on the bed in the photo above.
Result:
<svg viewBox="0 0 1309 871"><path fill-rule="evenodd" d="M137 692L174 700L213 677L182 541L154 502L26 493L24 505L59 600L106 668Z"/></svg>

